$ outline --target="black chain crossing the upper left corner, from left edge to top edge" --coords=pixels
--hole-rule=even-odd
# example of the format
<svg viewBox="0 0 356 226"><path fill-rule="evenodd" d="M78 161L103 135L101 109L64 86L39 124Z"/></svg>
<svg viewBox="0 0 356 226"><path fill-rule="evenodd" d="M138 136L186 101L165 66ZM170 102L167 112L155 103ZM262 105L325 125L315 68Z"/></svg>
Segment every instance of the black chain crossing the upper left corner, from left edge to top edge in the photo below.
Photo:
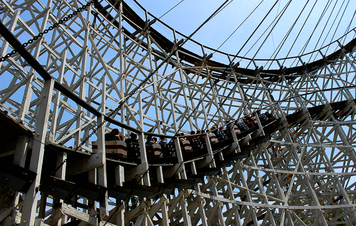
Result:
<svg viewBox="0 0 356 226"><path fill-rule="evenodd" d="M88 3L86 3L85 5L83 5L82 7L79 7L76 11L74 11L73 13L69 14L68 16L63 17L63 19L58 20L57 23L54 23L52 26L48 27L47 29L45 29L44 31L40 32L37 36L33 37L32 39L28 40L27 42L22 44L22 47L27 47L29 44L32 44L33 42L37 41L38 39L42 38L45 34L47 34L50 30L53 30L55 27L59 26L60 24L63 24L64 22L66 22L67 20L71 19L73 16L77 15L78 13L80 13L81 11L85 10L87 7L91 6L92 4L94 4L95 2L97 2L98 0L91 0ZM14 55L15 53L17 53L17 50L12 50L10 53L7 53L5 56L1 56L0 57L0 62L5 61L7 58L11 57L12 55Z"/></svg>

